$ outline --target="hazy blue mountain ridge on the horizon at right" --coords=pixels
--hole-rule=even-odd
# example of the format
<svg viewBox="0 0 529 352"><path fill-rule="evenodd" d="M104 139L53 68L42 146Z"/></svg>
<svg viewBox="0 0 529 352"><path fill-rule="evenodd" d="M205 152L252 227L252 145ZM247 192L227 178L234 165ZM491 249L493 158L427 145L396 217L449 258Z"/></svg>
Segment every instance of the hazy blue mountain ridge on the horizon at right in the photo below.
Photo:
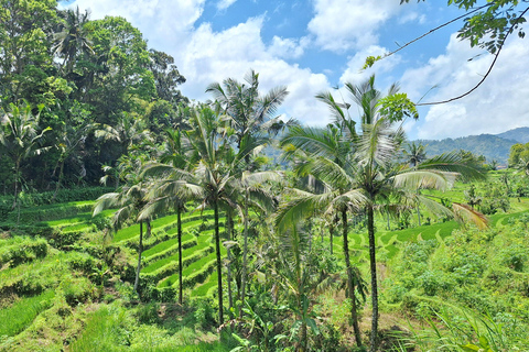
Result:
<svg viewBox="0 0 529 352"><path fill-rule="evenodd" d="M468 135L457 139L418 140L425 145L427 155L434 156L452 151L465 150L476 155L483 155L487 162L497 161L507 165L512 144L529 142L529 128L518 128L498 134Z"/></svg>

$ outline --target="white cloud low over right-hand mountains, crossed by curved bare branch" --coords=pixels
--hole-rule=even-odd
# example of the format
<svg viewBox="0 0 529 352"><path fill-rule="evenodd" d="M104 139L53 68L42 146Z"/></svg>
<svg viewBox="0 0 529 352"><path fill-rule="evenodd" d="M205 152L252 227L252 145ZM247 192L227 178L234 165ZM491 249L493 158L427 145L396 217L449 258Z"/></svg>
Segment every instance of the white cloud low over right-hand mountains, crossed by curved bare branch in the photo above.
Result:
<svg viewBox="0 0 529 352"><path fill-rule="evenodd" d="M493 56L482 55L452 35L446 53L402 76L406 91L419 99L436 87L425 101L445 100L472 89L487 72ZM468 58L473 58L468 61ZM523 40L506 44L485 82L474 92L454 102L431 107L417 123L420 139L456 138L481 133L500 133L529 125L529 46Z"/></svg>

